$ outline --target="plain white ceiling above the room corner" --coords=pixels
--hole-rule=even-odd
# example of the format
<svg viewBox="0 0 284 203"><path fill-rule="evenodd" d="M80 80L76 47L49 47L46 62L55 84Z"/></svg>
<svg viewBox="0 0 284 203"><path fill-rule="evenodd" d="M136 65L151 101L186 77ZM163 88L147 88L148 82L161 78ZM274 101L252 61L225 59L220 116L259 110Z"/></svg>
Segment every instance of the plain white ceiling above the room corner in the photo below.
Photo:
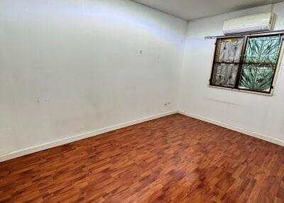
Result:
<svg viewBox="0 0 284 203"><path fill-rule="evenodd" d="M284 0L133 0L187 21Z"/></svg>

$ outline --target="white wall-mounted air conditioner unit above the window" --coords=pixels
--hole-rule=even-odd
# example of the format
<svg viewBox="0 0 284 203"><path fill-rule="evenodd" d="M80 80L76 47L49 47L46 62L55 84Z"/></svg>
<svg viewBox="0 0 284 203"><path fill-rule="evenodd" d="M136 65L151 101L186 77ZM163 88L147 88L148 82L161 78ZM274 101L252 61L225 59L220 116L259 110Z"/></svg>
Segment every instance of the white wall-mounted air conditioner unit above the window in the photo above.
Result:
<svg viewBox="0 0 284 203"><path fill-rule="evenodd" d="M251 33L261 31L271 31L273 23L273 13L258 13L224 21L223 32L225 35L234 33Z"/></svg>

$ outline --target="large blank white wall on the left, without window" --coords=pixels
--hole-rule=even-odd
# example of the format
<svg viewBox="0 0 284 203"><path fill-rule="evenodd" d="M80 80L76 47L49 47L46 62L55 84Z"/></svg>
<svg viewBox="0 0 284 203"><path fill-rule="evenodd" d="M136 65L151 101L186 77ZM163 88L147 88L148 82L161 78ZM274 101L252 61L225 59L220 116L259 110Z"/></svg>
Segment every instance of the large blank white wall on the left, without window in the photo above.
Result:
<svg viewBox="0 0 284 203"><path fill-rule="evenodd" d="M0 155L176 110L186 26L132 1L0 1Z"/></svg>

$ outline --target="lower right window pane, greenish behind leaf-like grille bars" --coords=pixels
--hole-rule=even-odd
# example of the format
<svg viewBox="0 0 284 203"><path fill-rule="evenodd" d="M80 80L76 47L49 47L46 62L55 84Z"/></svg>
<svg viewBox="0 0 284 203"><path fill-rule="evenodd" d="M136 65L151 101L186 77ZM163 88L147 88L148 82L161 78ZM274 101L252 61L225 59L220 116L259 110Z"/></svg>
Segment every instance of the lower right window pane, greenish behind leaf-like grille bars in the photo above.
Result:
<svg viewBox="0 0 284 203"><path fill-rule="evenodd" d="M239 88L269 92L274 71L274 65L243 65Z"/></svg>

